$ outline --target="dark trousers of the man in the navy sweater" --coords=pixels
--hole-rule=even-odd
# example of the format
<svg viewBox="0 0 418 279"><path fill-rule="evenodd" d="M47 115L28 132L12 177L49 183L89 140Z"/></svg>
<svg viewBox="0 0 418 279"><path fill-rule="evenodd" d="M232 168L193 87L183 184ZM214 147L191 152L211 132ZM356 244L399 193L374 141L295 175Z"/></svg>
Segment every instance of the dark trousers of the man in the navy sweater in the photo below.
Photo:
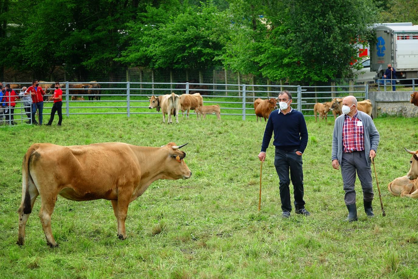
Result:
<svg viewBox="0 0 418 279"><path fill-rule="evenodd" d="M293 184L293 195L295 197L295 210L305 208L303 200L303 169L302 156L294 151L283 151L276 148L274 156L274 166L280 179L280 200L282 202L282 210L291 212L292 205L290 203L290 178Z"/></svg>

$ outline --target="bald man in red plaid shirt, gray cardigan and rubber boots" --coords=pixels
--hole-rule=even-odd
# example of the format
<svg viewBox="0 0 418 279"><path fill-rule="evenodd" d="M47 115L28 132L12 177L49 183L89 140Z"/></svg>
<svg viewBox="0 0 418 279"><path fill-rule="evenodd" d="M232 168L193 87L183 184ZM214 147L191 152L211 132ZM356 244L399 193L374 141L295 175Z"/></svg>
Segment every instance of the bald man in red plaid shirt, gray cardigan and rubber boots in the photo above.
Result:
<svg viewBox="0 0 418 279"><path fill-rule="evenodd" d="M357 99L347 96L342 101L343 114L335 120L332 137L332 167L339 169L344 184L348 216L346 221L357 221L356 192L354 183L356 171L363 189L364 211L373 217L372 169L371 159L375 158L379 145L379 132L372 118L357 110Z"/></svg>

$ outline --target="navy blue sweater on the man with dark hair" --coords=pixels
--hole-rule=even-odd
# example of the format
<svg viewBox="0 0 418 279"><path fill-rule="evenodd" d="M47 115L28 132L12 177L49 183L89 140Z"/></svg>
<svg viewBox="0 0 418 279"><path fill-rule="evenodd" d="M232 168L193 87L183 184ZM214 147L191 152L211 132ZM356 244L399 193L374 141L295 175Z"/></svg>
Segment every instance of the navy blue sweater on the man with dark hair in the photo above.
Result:
<svg viewBox="0 0 418 279"><path fill-rule="evenodd" d="M274 131L273 145L285 151L297 149L303 153L308 144L308 129L306 129L305 118L297 110L291 113L279 113L280 110L273 110L268 117L265 126L263 144L261 151L266 151Z"/></svg>

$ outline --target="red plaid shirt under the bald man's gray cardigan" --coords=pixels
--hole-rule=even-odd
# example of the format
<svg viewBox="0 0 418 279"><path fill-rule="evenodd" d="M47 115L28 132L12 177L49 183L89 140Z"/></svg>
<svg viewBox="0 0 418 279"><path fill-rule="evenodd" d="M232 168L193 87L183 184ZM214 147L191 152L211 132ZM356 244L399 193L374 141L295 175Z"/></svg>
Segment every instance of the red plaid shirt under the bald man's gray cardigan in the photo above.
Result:
<svg viewBox="0 0 418 279"><path fill-rule="evenodd" d="M345 115L342 126L342 145L344 153L364 150L364 127L362 120L357 118L357 112L351 119Z"/></svg>

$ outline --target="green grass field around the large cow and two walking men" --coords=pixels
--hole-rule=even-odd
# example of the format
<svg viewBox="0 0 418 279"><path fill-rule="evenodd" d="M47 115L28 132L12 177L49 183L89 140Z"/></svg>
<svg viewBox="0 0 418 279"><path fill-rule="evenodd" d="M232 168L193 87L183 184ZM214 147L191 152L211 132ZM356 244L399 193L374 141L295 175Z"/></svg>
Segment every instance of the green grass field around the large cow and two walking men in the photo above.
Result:
<svg viewBox="0 0 418 279"><path fill-rule="evenodd" d="M417 278L418 200L390 195L387 184L408 172L410 155L403 147L418 149L418 119L375 119L381 135L376 167L387 216L381 216L375 186L376 218L366 218L356 184L359 221L354 223L342 221L347 209L341 173L331 167L333 121L307 118L307 124L303 166L311 216L292 211L289 220L280 217L273 146L263 164L257 212L257 154L265 124L254 117L217 121L210 115L196 121L193 116L164 125L161 115L71 115L61 127L1 128L0 278ZM182 150L193 175L156 181L132 202L125 241L117 239L109 201L58 197L52 230L60 246L49 248L37 216L38 197L25 245L17 246L21 165L28 147L107 141L189 142Z"/></svg>

